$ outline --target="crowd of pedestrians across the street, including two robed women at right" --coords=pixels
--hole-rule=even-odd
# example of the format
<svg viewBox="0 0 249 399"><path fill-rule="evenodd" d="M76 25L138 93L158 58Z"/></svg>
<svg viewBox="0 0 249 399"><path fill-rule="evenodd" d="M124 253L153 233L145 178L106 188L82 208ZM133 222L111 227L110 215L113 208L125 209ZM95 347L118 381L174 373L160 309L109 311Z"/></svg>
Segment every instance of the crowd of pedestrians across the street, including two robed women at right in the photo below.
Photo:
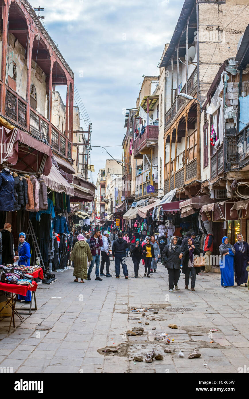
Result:
<svg viewBox="0 0 249 399"><path fill-rule="evenodd" d="M209 240L213 240L211 235ZM196 276L199 273L211 271L210 243L207 243L207 251L201 254L200 242L194 232L187 232L185 238L173 236L168 243L166 236L162 236L157 241L154 235L136 238L132 233L114 230L104 231L101 234L99 229L94 232L78 234L75 232L73 238L73 249L71 261L73 261L75 282L81 283L85 279L91 280L91 272L95 266L95 280L102 281L101 277L112 277L110 274L110 257L115 262L115 277L120 277L120 267L122 266L125 279L128 279L128 268L126 259L131 257L134 265L134 277L138 277L140 263L144 265L144 277L151 277L155 273L158 263L164 265L168 270L169 290L178 290L180 273L185 277L185 289L190 288L195 291ZM209 247L208 247L209 245ZM249 245L244 241L241 234L237 235L237 242L232 246L227 237L223 237L219 246L220 259L219 266L221 271L221 286L229 287L241 284L248 285L249 270ZM100 270L99 270L100 265ZM104 273L106 267L106 274ZM88 271L87 271L88 268Z"/></svg>

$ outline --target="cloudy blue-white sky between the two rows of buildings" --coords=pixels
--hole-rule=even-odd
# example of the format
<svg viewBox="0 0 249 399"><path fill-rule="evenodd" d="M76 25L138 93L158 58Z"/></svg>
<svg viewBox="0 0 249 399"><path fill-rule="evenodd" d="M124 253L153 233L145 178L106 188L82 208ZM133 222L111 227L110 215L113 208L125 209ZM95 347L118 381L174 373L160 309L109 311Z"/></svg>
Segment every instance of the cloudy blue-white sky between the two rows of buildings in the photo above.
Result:
<svg viewBox="0 0 249 399"><path fill-rule="evenodd" d="M30 3L38 6L34 0ZM183 3L184 0L40 2L45 27L74 71L75 86L93 124L92 146L106 147L114 158L122 158L124 109L136 106L143 74L159 75L156 66L164 44L171 39ZM105 150L93 147L94 182L107 158L111 157Z"/></svg>

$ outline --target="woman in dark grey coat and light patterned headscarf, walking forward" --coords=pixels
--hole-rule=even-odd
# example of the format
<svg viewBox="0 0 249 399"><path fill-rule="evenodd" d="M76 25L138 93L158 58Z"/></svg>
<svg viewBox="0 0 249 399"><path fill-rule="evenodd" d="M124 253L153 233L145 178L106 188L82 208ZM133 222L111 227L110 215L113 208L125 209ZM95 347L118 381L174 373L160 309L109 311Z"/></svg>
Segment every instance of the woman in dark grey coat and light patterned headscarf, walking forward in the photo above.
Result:
<svg viewBox="0 0 249 399"><path fill-rule="evenodd" d="M182 250L181 246L177 244L178 238L173 235L170 239L170 244L165 245L162 251L163 265L168 270L168 281L170 292L173 292L174 286L178 290L178 280L180 278Z"/></svg>

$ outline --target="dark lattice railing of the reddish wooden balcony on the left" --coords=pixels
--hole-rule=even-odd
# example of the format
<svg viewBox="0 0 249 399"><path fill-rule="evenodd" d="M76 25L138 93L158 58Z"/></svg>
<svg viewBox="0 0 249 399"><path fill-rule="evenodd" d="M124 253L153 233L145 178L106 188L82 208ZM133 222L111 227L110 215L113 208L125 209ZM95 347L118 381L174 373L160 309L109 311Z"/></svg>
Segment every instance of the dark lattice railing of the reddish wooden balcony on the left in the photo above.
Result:
<svg viewBox="0 0 249 399"><path fill-rule="evenodd" d="M0 86L2 89L2 85ZM6 87L5 116L10 122L18 125L20 129L26 130L49 144L48 119L30 107L30 126L27 118L28 102L18 95L10 87ZM51 124L51 146L65 158L72 157L72 144L67 137Z"/></svg>

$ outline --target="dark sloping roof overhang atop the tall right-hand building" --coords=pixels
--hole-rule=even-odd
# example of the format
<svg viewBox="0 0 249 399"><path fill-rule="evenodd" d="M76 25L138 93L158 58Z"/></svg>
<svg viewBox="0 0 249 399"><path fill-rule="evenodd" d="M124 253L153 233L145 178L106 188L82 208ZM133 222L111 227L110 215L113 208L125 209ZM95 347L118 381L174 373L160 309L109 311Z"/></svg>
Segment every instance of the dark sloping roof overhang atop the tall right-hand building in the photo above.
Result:
<svg viewBox="0 0 249 399"><path fill-rule="evenodd" d="M184 5L182 7L180 17L176 24L176 28L175 28L173 36L170 40L170 45L168 46L168 49L167 49L166 53L164 54L162 62L160 63L160 68L166 67L168 65L168 62L170 61L170 58L175 51L175 47L178 43L180 34L182 33L182 30L184 29L184 26L186 25L188 16L190 15L190 12L192 11L192 8L194 7L195 4L196 4L195 0L185 0Z"/></svg>

